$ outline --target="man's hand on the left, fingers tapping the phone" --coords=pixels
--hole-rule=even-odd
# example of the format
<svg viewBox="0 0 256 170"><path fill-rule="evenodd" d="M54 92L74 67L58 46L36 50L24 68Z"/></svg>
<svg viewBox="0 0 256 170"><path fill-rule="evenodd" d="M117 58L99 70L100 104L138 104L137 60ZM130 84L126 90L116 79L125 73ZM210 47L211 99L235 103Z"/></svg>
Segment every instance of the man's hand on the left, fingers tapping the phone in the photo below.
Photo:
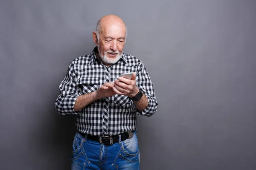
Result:
<svg viewBox="0 0 256 170"><path fill-rule="evenodd" d="M116 93L113 91L114 82L106 82L98 90L96 90L96 98L111 97Z"/></svg>

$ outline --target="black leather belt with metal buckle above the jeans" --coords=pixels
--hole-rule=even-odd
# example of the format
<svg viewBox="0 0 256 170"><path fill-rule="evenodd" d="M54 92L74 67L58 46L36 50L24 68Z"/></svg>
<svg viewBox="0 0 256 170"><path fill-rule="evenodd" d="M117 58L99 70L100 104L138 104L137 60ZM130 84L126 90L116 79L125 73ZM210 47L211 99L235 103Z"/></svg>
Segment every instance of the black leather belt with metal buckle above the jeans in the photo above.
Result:
<svg viewBox="0 0 256 170"><path fill-rule="evenodd" d="M82 136L85 137L86 134L79 132ZM133 136L133 132L126 132L121 133L121 141L125 141L126 139L130 139ZM87 139L99 142L101 144L105 145L111 145L114 143L119 142L119 136L93 136L93 135L87 135Z"/></svg>

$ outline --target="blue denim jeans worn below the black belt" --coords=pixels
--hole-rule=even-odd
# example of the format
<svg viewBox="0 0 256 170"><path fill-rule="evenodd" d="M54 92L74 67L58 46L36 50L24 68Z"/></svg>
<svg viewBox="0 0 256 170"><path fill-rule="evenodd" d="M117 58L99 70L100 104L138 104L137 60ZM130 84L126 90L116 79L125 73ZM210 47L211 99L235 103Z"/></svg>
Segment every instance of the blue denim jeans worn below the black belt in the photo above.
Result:
<svg viewBox="0 0 256 170"><path fill-rule="evenodd" d="M76 133L71 170L140 170L137 132L131 139L112 145L100 144Z"/></svg>

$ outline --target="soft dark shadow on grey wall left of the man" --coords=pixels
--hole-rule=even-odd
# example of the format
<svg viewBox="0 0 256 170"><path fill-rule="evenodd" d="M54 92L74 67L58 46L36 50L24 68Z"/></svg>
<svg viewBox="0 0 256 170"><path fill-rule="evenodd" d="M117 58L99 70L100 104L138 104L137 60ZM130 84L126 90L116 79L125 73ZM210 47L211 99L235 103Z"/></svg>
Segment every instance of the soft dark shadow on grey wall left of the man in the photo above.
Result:
<svg viewBox="0 0 256 170"><path fill-rule="evenodd" d="M90 45L90 47L92 46ZM72 58L66 57L64 59L65 64L60 62L60 57L54 59L52 61L54 62L53 70L41 75L47 77L47 81L37 80L35 86L39 87L40 91L37 91L35 96L40 97L32 102L33 105L29 111L37 114L32 114L29 118L32 122L32 125L29 126L33 128L29 128L27 136L31 150L29 153L32 154L29 163L32 166L36 164L41 169L70 170L72 143L76 134L76 116L60 115L56 111L54 103L59 95L58 86L64 78L64 74L66 74L69 63L79 57L77 54L87 51L86 54L83 54L87 55L92 49L93 47L84 50L79 48ZM63 57L65 55L59 56Z"/></svg>

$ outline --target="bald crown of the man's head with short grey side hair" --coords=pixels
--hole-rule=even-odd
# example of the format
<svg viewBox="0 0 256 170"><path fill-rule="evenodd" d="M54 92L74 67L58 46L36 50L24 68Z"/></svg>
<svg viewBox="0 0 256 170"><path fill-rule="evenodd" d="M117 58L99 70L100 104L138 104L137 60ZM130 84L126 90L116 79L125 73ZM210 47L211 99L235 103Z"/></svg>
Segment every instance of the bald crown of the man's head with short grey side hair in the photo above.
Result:
<svg viewBox="0 0 256 170"><path fill-rule="evenodd" d="M125 28L125 40L127 37L127 27L125 25L125 22L118 16L116 15L106 15L104 17L102 17L101 19L99 19L99 21L97 22L97 26L96 26L96 33L97 33L97 37L99 39L99 35L100 32L102 30L105 30L106 28L110 27L110 26L119 26L119 27L123 27Z"/></svg>

